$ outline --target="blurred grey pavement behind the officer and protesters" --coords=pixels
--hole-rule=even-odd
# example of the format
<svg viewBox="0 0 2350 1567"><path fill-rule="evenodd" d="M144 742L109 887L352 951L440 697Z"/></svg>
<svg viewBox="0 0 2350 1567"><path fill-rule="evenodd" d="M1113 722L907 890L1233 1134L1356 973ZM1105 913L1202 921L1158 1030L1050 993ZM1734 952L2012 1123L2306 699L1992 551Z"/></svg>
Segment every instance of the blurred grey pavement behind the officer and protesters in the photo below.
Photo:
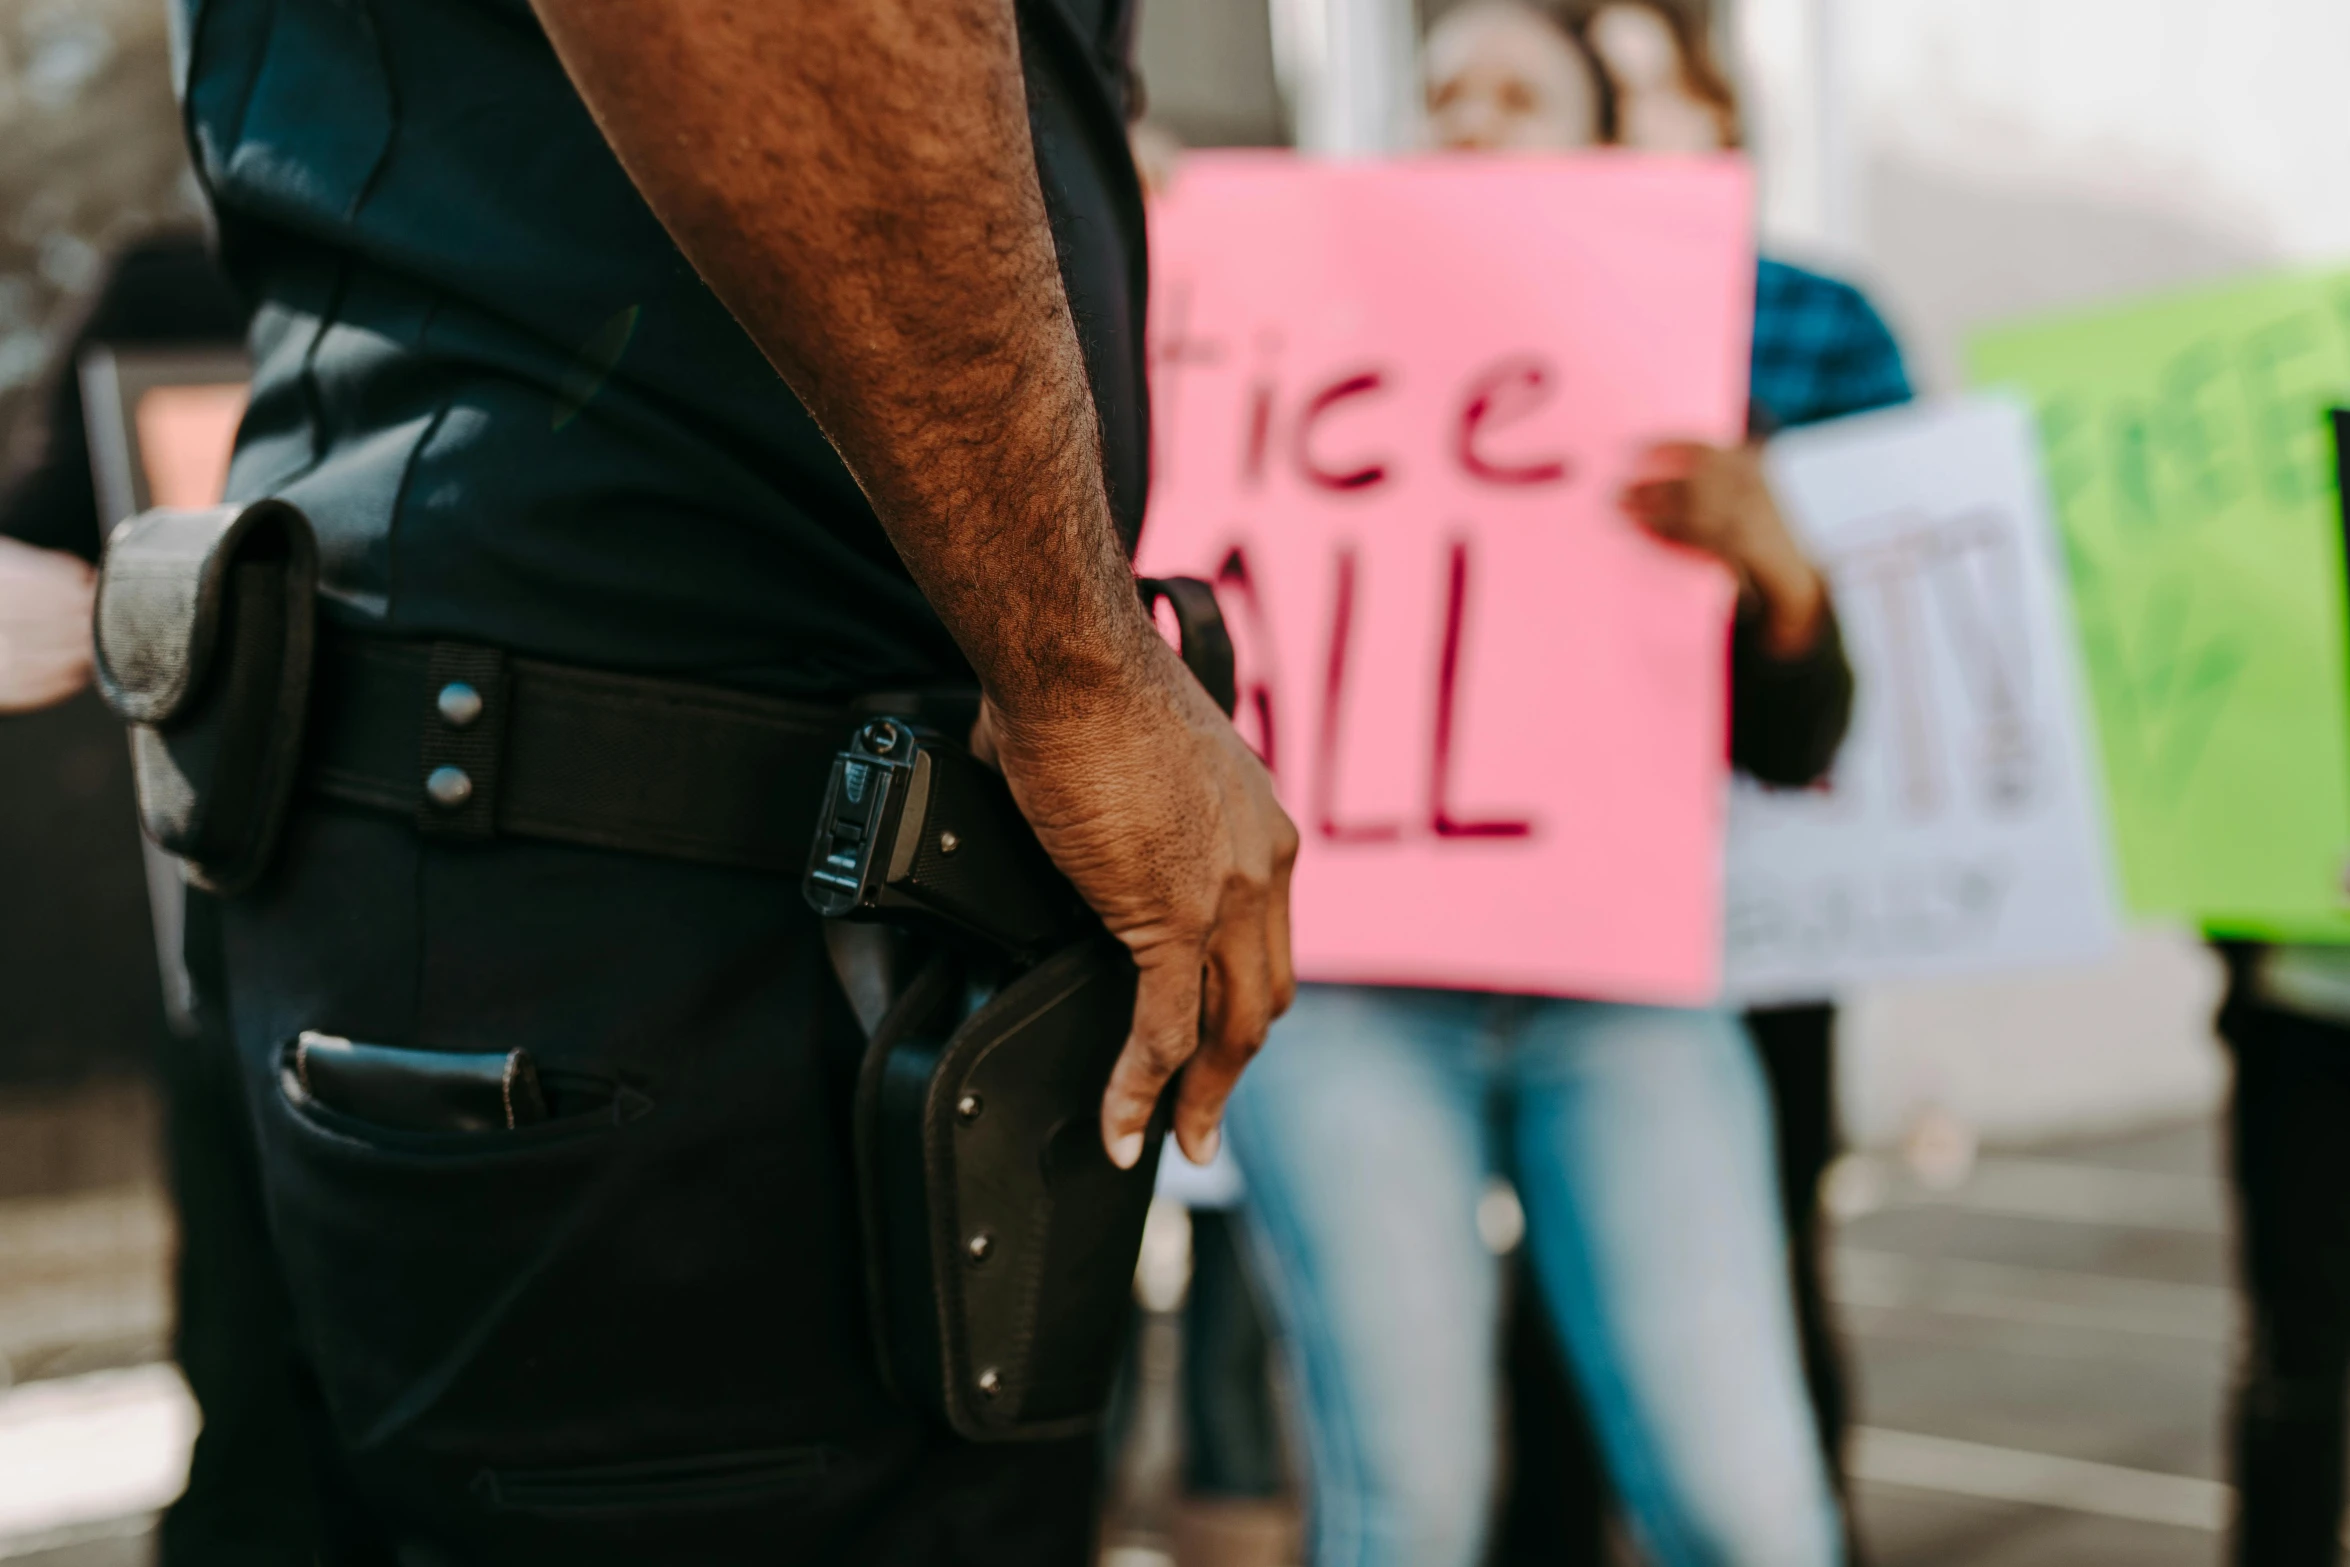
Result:
<svg viewBox="0 0 2350 1567"><path fill-rule="evenodd" d="M2218 1562L2237 1304L2216 1128L1993 1151L1946 1175L1927 1186L1864 1156L1833 1182L1856 1504L1880 1567ZM21 1365L0 1393L9 1567L148 1560L146 1515L190 1435L155 1363L167 1255L153 1186L0 1205L0 1344ZM1152 1351L1163 1391L1173 1344ZM1161 1417L1144 1426L1170 1440ZM1128 1473L1166 1487L1173 1464ZM1173 1562L1154 1527L1168 1515L1128 1494L1114 1560Z"/></svg>

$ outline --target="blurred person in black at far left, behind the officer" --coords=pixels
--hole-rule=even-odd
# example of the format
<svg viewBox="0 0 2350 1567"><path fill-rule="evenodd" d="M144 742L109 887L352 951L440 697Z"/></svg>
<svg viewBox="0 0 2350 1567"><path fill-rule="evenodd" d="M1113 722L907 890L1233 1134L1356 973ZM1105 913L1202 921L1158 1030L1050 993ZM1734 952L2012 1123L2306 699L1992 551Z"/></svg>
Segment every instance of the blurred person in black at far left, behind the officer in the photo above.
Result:
<svg viewBox="0 0 2350 1567"><path fill-rule="evenodd" d="M0 714L63 702L92 674L92 566L108 519L89 456L78 374L108 348L242 348L249 310L202 233L127 247L66 334L28 418L28 460L0 489ZM122 832L136 832L125 820ZM315 1478L301 1424L301 1358L261 1219L251 1123L237 1085L221 987L219 909L186 890L195 1034L157 1055L172 1203L172 1353L197 1405L188 1485L157 1525L162 1567L308 1567L317 1560Z"/></svg>

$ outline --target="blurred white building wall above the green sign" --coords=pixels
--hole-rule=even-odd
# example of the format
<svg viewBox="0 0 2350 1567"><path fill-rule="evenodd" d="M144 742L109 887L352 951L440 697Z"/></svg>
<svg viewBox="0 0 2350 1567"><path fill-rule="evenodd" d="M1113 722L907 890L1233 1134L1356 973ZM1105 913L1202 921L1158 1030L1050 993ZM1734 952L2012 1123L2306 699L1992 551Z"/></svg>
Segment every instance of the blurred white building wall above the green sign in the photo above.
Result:
<svg viewBox="0 0 2350 1567"><path fill-rule="evenodd" d="M2338 0L1737 0L1762 230L1972 329L2350 256Z"/></svg>

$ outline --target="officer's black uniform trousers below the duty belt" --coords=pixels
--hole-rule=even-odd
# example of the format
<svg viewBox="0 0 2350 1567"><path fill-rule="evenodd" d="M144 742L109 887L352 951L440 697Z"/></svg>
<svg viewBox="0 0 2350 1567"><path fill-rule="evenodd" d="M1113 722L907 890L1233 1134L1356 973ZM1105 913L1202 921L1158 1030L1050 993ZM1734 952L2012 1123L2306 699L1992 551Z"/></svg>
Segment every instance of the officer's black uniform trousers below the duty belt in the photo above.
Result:
<svg viewBox="0 0 2350 1567"><path fill-rule="evenodd" d="M1088 1560L1090 1440L973 1447L877 1379L860 1038L787 879L306 806L223 937L329 1562ZM557 1116L362 1123L282 1088L303 1029L526 1048Z"/></svg>

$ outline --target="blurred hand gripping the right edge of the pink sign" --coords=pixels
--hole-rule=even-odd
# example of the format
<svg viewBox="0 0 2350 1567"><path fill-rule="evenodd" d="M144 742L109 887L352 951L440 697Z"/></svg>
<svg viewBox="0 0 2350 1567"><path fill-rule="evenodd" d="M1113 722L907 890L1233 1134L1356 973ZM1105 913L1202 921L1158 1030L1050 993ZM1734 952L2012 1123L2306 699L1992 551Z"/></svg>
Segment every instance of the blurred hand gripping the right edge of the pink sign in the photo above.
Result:
<svg viewBox="0 0 2350 1567"><path fill-rule="evenodd" d="M1730 566L1762 608L1772 653L1800 658L1819 639L1828 585L1786 526L1758 446L1650 446L1619 505L1657 538Z"/></svg>

